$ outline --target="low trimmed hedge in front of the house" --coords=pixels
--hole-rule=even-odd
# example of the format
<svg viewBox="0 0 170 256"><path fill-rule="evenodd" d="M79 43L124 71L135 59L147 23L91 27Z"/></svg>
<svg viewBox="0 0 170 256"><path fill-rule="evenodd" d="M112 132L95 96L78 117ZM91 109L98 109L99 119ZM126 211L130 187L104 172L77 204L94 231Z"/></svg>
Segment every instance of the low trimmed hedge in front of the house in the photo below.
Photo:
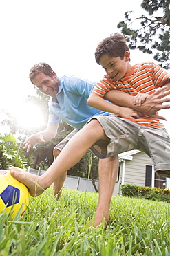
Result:
<svg viewBox="0 0 170 256"><path fill-rule="evenodd" d="M121 190L123 196L145 198L153 201L166 201L170 203L170 190L167 189L125 184L121 186Z"/></svg>

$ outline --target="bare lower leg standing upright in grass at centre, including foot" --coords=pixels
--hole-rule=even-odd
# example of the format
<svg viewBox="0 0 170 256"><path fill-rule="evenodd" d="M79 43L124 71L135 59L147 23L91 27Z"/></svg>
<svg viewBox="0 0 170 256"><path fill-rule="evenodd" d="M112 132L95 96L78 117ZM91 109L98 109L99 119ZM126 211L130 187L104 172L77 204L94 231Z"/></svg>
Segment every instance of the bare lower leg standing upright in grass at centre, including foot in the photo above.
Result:
<svg viewBox="0 0 170 256"><path fill-rule="evenodd" d="M96 228L105 218L104 228L109 221L109 208L111 196L114 192L118 174L118 156L111 156L106 159L99 160L98 176L99 176L99 199L96 208L95 219L91 219L89 226Z"/></svg>

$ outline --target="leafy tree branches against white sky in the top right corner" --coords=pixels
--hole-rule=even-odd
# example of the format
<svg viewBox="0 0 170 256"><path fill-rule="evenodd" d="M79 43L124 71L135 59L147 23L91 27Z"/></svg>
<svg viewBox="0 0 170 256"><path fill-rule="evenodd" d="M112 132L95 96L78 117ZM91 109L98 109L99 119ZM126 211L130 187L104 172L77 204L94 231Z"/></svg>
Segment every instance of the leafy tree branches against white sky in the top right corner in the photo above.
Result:
<svg viewBox="0 0 170 256"><path fill-rule="evenodd" d="M128 11L125 12L126 20L118 23L118 28L129 42L129 48L149 54L154 52L154 60L166 69L170 68L169 5L170 1L167 0L143 0L141 8L146 11L145 15L131 17L132 11Z"/></svg>

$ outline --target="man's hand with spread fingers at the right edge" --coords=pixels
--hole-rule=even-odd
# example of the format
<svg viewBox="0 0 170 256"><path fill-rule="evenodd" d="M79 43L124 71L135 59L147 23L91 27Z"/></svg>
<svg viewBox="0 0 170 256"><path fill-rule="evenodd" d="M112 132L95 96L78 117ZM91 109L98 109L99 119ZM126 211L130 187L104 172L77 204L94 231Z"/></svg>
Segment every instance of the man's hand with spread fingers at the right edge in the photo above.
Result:
<svg viewBox="0 0 170 256"><path fill-rule="evenodd" d="M155 93L152 93L147 97L145 102L140 107L134 108L137 111L141 111L142 113L146 113L152 118L159 118L166 120L163 116L158 115L158 111L160 109L170 109L170 104L163 104L165 102L169 102L170 98L166 98L167 95L170 94L170 90L167 90L167 86L163 86L162 88L158 88Z"/></svg>

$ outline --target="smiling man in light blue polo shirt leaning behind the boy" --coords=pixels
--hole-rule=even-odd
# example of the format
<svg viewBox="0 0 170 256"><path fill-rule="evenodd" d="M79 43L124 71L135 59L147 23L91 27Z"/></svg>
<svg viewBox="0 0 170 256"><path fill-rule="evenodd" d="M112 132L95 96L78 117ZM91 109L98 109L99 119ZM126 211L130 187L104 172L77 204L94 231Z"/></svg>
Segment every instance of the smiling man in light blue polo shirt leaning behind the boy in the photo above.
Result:
<svg viewBox="0 0 170 256"><path fill-rule="evenodd" d="M67 136L65 140L59 143L59 145L56 145L54 148L54 158L56 158L63 147L65 147L67 141L70 140L74 134L76 134L78 129L81 129L85 125L89 118L96 115L109 114L107 112L99 111L98 109L87 106L87 98L95 86L94 82L83 80L74 76L63 76L59 78L56 76L56 73L54 73L52 68L45 63L36 64L31 68L30 80L36 86L36 88L39 89L39 91L49 95L51 98L49 102L50 115L47 128L39 133L32 134L25 140L25 148L27 151L30 150L31 145L34 145L39 141L46 142L54 138L57 134L59 122L64 120L76 130L72 131L72 133ZM122 97L122 99L124 99L125 94L126 93L119 92L119 95L116 96L116 98L119 97L120 100ZM149 99L150 102L147 100L145 104L142 104L141 112L142 108L144 109L143 112L145 112L146 109L148 109L148 107L146 107L148 105L152 111L151 114L156 113L158 109L163 108L162 102L160 102L160 96L159 98L157 98L157 95L153 95L152 97L154 96L155 98ZM157 109L155 106L156 100L159 104ZM116 107L119 111L119 116L131 119L141 116L141 113L138 112L140 110L139 107L136 107L137 111L127 107ZM114 190L117 172L118 156L111 156L99 161L99 201L93 224L94 227L98 226L98 224L103 221L103 218L105 218L106 223L109 221L109 206L111 195ZM63 187L66 174L67 172L59 176L59 178L54 181L54 194L58 197L61 195L61 189ZM90 222L90 226L92 226L92 221Z"/></svg>

